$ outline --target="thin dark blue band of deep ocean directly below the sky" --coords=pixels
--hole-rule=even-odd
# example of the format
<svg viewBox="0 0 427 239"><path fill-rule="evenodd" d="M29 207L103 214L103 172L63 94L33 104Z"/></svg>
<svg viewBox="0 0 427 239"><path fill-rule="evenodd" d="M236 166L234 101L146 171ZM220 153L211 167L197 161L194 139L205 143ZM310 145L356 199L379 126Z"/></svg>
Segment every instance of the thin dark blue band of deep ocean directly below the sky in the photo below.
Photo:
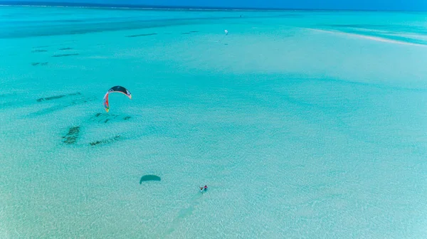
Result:
<svg viewBox="0 0 427 239"><path fill-rule="evenodd" d="M379 9L286 9L286 8L257 8L257 7L235 7L235 6L165 6L165 5L143 5L143 4L91 4L91 3L71 3L56 1L0 1L0 6L68 6L68 7L91 7L106 9L146 9L146 10L243 10L243 11L400 11L400 12L426 12L416 10L379 10Z"/></svg>

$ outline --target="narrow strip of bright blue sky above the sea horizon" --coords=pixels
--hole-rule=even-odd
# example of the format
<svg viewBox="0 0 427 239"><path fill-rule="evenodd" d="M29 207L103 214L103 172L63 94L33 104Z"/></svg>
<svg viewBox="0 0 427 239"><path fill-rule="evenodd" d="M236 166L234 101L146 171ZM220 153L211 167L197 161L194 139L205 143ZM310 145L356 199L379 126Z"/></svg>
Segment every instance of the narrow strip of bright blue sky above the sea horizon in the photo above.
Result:
<svg viewBox="0 0 427 239"><path fill-rule="evenodd" d="M0 0L1 2L2 0ZM31 0L22 0L31 1ZM220 6L281 9L369 9L427 11L427 0L33 0L95 4L139 4L155 6Z"/></svg>

